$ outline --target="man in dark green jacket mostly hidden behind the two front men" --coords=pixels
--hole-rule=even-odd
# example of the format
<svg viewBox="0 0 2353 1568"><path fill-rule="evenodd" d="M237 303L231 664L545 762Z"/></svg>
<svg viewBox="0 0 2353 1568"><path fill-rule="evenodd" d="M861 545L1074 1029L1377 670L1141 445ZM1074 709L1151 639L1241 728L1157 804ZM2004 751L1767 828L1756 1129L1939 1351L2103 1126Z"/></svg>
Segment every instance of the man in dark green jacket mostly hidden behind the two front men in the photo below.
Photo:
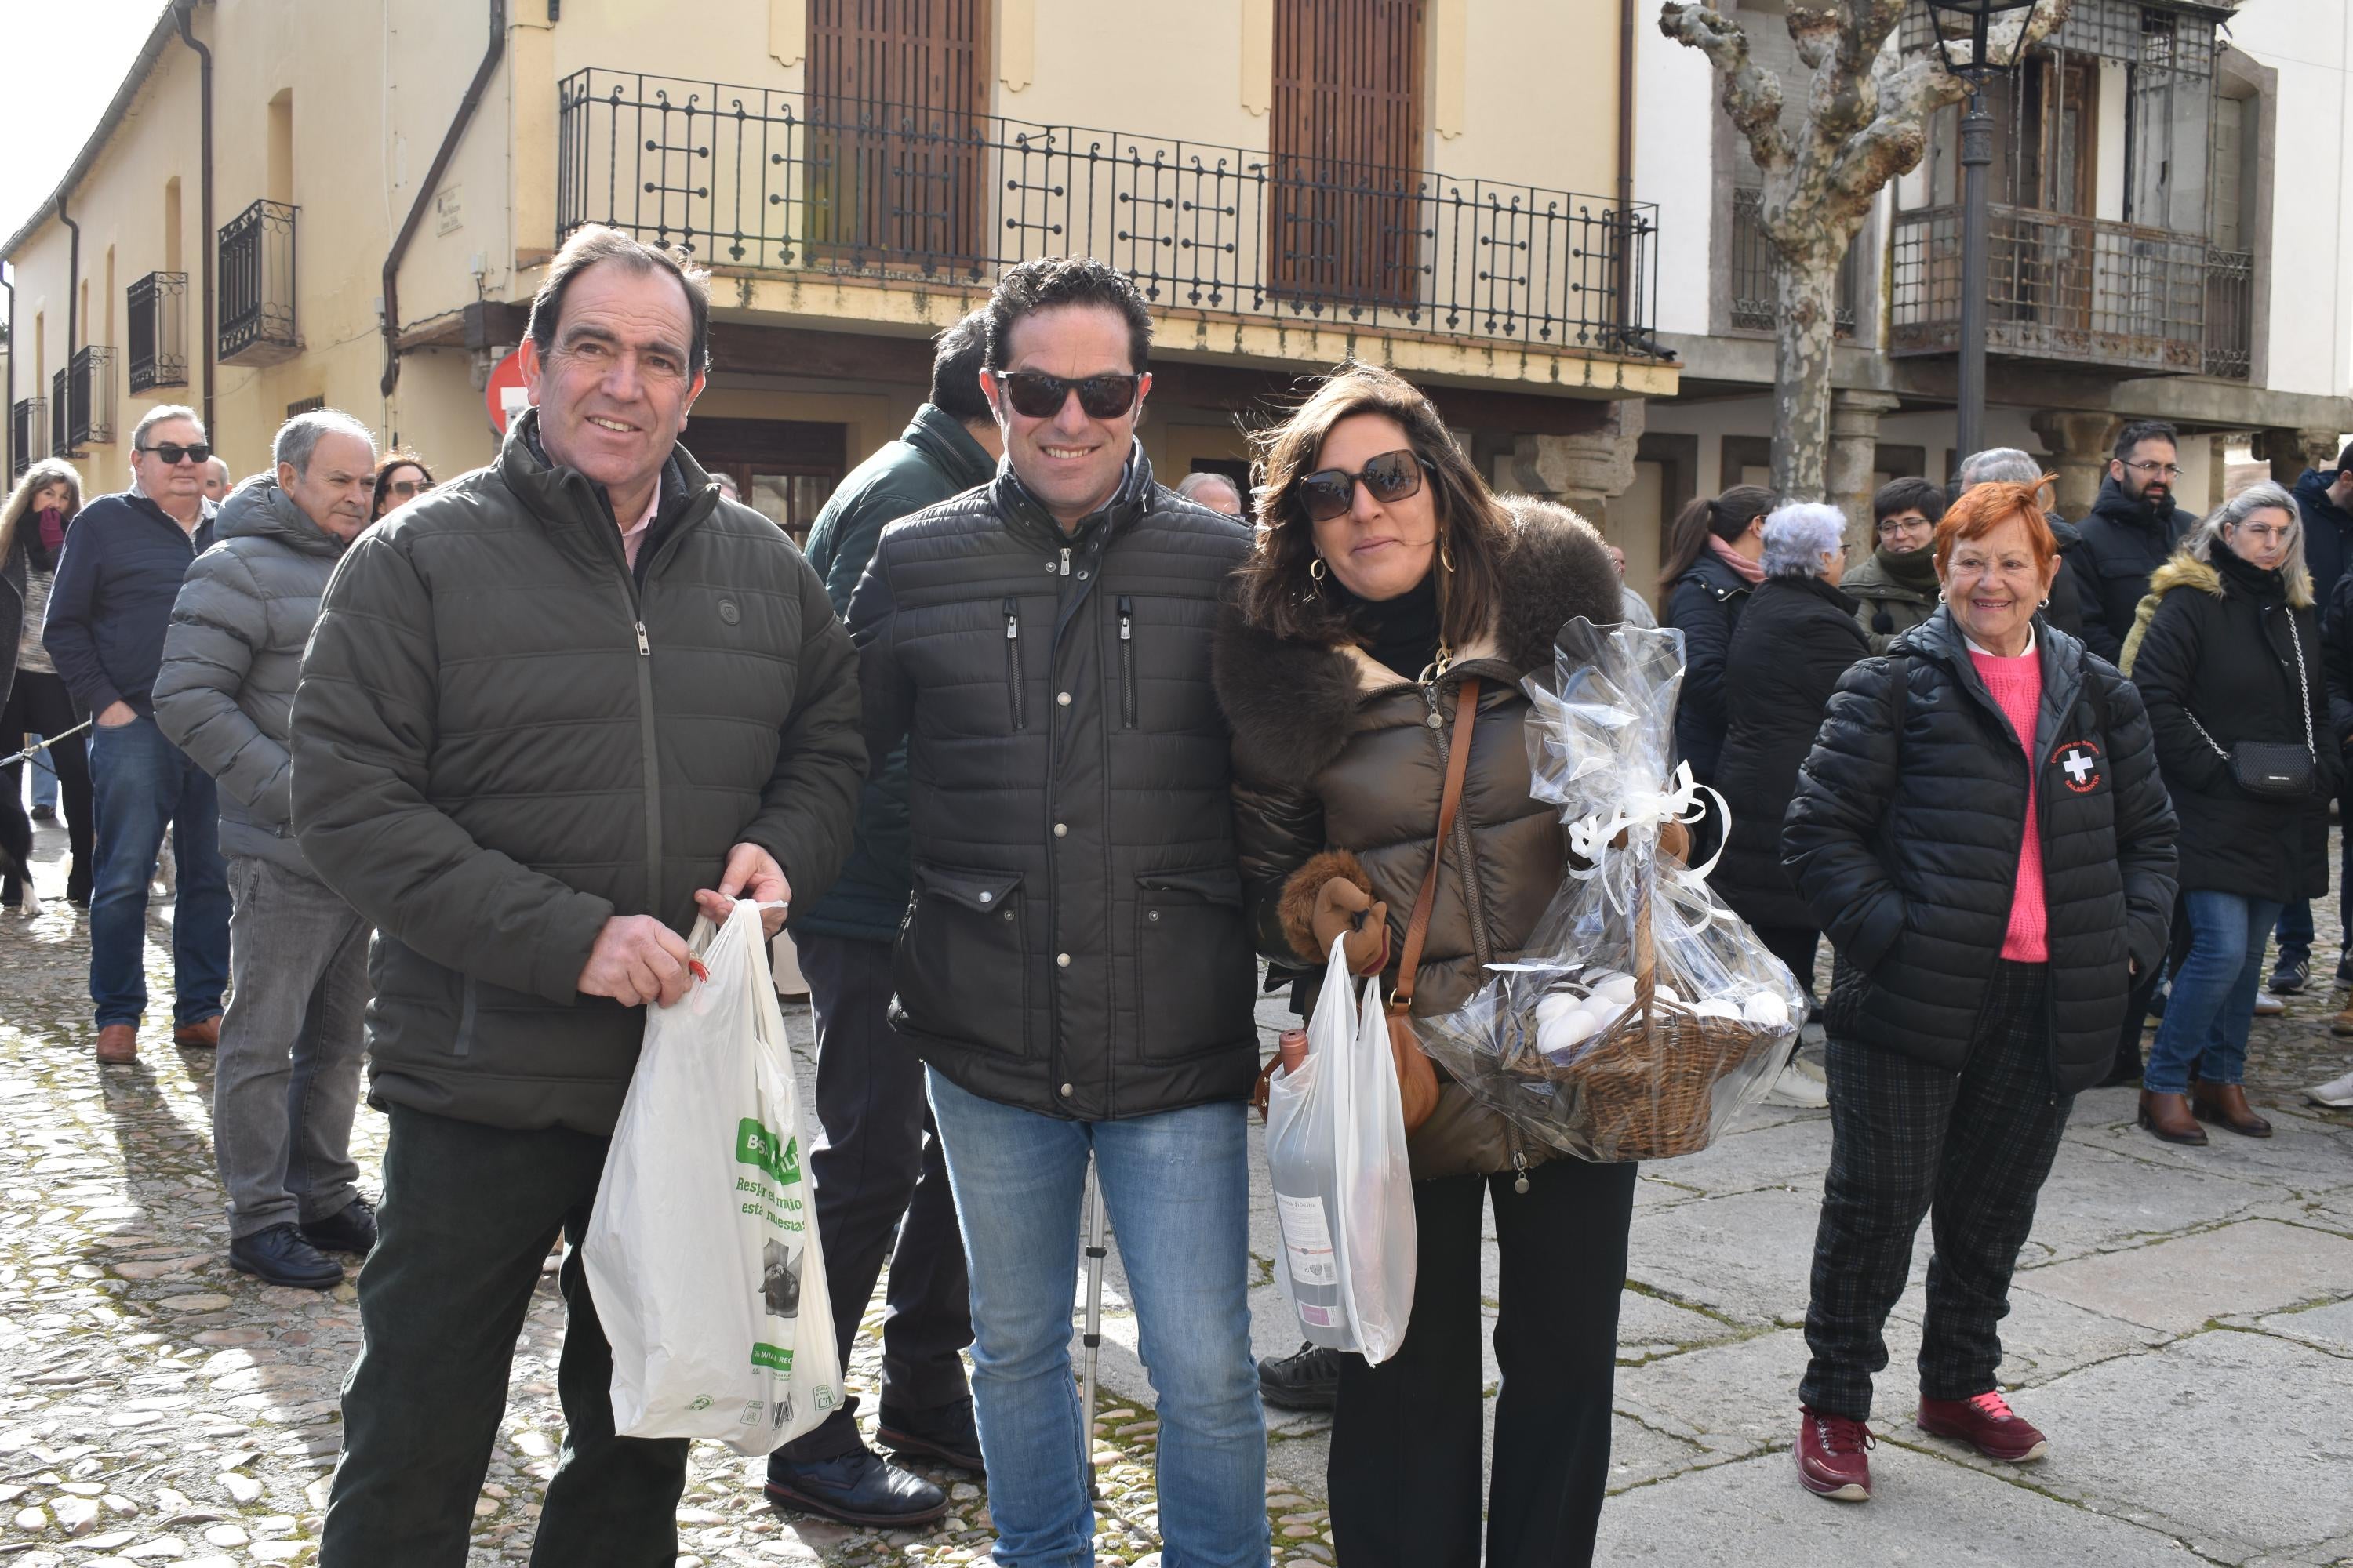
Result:
<svg viewBox="0 0 2353 1568"><path fill-rule="evenodd" d="M981 393L986 360L986 310L939 334L932 400L816 515L809 564L826 578L835 611L849 611L887 524L995 477L1005 440ZM878 757L866 778L859 837L833 891L793 910L793 945L816 1013L816 1117L826 1128L809 1154L816 1237L842 1366L889 1248L882 1441L979 1472L981 1439L972 1429L962 1361L972 1345L965 1237L922 1093L922 1060L889 1027L889 945L906 917L906 842L901 745ZM852 1396L816 1432L769 1455L767 1493L845 1523L913 1526L946 1514L948 1497L932 1481L866 1448L856 1406Z"/></svg>

